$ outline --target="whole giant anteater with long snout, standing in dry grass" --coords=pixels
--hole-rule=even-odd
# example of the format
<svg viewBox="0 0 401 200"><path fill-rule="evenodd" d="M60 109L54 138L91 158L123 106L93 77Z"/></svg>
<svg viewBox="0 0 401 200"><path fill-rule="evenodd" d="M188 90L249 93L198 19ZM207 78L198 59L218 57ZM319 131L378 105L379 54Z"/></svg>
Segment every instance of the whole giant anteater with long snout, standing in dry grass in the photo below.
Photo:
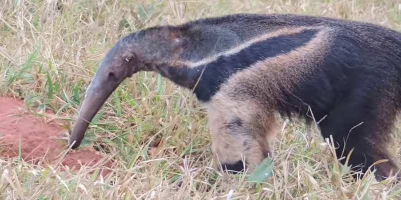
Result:
<svg viewBox="0 0 401 200"><path fill-rule="evenodd" d="M308 125L321 120L338 158L353 149L353 167L365 172L388 159L374 166L376 178L398 172L387 151L401 103L397 31L294 14L232 14L139 30L107 52L81 117L90 121L118 84L140 70L193 89L208 111L213 156L224 169L241 171L245 156L252 171L272 152L277 117L288 116ZM82 118L71 135L74 148L87 128Z"/></svg>

